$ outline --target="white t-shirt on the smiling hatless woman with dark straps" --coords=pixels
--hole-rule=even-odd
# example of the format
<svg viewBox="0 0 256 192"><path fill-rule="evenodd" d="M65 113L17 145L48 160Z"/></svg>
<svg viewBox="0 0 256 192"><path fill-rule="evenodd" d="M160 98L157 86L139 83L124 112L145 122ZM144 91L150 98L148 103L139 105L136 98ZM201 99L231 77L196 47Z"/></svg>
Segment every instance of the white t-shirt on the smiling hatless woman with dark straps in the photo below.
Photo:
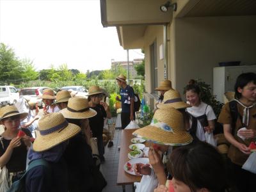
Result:
<svg viewBox="0 0 256 192"><path fill-rule="evenodd" d="M205 111L206 109L206 111ZM204 102L201 102L199 106L193 106L191 108L187 108L188 113L190 113L191 115L197 117L197 116L201 116L201 115L206 115L207 116L207 120L214 120L216 119L216 115L212 109L211 106L205 104ZM192 122L190 121L190 125L192 124ZM196 137L200 140L200 141L205 141L205 132L204 132L204 127L202 127L202 125L200 124L200 122L197 120L197 129L196 129Z"/></svg>

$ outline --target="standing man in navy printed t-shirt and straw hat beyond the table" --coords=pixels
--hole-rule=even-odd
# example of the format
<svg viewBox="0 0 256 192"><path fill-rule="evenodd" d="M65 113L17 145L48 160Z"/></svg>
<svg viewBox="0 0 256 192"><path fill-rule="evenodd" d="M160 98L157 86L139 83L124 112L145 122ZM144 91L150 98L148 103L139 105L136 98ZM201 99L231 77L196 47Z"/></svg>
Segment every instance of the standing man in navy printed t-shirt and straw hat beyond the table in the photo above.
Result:
<svg viewBox="0 0 256 192"><path fill-rule="evenodd" d="M121 112L121 123L122 129L132 121L135 120L135 111L134 111L134 90L131 86L126 83L126 77L120 75L116 77L116 82L120 87L121 99L116 96L116 100L122 103L122 112Z"/></svg>

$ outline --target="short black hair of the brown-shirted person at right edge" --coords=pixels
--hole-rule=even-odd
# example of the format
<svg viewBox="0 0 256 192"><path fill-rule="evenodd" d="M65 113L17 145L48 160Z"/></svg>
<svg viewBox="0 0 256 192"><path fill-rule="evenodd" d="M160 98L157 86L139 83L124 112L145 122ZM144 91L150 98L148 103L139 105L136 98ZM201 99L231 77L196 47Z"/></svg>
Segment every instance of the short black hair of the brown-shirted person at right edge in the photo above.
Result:
<svg viewBox="0 0 256 192"><path fill-rule="evenodd" d="M254 83L256 84L256 74L253 72L249 73L244 73L240 74L237 79L236 79L236 84L235 84L235 98L236 99L241 99L242 94L237 91L238 88L243 89L244 86L246 86L248 83Z"/></svg>

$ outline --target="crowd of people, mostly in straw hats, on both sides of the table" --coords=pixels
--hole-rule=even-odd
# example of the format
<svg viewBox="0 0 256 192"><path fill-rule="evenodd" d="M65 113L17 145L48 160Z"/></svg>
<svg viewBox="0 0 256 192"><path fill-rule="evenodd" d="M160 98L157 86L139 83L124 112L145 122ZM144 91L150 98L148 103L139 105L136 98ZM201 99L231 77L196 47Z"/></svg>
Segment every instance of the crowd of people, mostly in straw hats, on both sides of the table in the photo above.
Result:
<svg viewBox="0 0 256 192"><path fill-rule="evenodd" d="M136 97L125 76L116 81L125 129L135 120ZM156 90L160 96L152 122L132 133L152 143L151 166L134 165L135 172L143 175L136 191L255 191L255 168L244 168L244 164L256 161L249 147L256 141L256 74L237 77L235 98L223 106L218 120L212 106L200 99L196 81L189 81L185 88L187 102L169 80ZM42 116L38 109L34 114L29 98L1 108L0 191L12 189L21 180L25 191L102 191L107 184L99 170L105 161L102 132L104 120L111 118L103 97L99 86L89 88L88 99L72 97L65 90L55 96L46 89ZM206 138L213 136L217 121L230 145L227 161ZM92 138L97 138L98 156Z"/></svg>

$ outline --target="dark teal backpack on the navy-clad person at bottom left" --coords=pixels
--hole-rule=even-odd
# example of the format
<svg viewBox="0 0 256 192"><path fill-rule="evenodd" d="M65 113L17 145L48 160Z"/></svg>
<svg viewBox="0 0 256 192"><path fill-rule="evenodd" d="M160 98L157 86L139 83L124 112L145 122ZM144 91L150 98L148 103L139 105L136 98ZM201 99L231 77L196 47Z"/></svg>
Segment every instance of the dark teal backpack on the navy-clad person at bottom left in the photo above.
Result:
<svg viewBox="0 0 256 192"><path fill-rule="evenodd" d="M13 182L12 186L10 187L10 189L8 189L7 192L24 192L26 191L26 174L29 172L29 170L31 170L32 168L36 167L36 166L45 166L45 168L47 168L47 175L50 176L50 166L47 163L47 161L45 161L44 159L36 159L34 161L31 161L31 163L29 163L28 169L26 170L26 172L22 175L22 177Z"/></svg>

